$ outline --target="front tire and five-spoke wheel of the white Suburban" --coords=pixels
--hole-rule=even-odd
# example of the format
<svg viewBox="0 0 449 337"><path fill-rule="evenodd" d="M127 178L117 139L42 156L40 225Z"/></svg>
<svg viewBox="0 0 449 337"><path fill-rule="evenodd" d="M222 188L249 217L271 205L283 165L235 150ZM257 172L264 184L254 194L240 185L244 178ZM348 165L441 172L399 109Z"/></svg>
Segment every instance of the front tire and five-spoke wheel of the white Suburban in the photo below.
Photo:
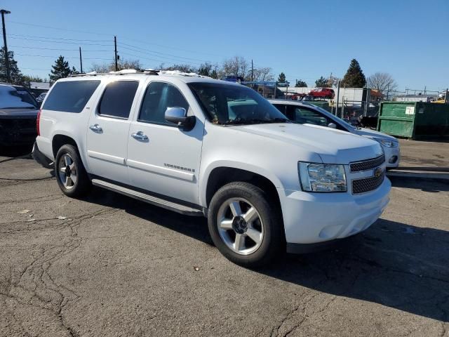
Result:
<svg viewBox="0 0 449 337"><path fill-rule="evenodd" d="M285 239L279 206L250 183L229 183L215 193L208 227L220 253L238 265L269 265L282 253Z"/></svg>

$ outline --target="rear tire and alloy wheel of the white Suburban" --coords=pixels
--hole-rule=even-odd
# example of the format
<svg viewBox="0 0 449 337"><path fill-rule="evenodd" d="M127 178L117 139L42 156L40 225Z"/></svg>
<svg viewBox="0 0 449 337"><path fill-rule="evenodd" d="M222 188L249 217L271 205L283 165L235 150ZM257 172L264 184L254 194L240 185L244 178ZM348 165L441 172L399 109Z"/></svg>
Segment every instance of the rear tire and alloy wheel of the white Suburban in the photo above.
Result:
<svg viewBox="0 0 449 337"><path fill-rule="evenodd" d="M76 198L86 195L91 180L84 169L79 152L73 145L62 145L55 158L55 176L62 192Z"/></svg>

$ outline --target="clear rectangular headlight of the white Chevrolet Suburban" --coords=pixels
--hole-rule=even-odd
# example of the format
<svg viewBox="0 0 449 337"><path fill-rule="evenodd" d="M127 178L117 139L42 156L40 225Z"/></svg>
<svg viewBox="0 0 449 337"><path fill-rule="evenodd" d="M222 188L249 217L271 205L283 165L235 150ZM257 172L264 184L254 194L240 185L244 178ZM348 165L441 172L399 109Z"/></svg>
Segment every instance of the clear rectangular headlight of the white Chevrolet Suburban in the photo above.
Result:
<svg viewBox="0 0 449 337"><path fill-rule="evenodd" d="M343 165L299 162L301 187L308 192L346 192Z"/></svg>

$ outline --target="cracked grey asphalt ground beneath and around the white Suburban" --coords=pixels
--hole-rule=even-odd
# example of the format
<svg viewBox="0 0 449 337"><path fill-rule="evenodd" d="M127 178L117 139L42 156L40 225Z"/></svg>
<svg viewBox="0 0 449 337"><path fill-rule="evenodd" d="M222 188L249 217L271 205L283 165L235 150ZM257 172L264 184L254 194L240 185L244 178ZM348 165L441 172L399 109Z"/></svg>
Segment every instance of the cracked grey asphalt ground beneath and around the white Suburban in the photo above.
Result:
<svg viewBox="0 0 449 337"><path fill-rule="evenodd" d="M447 183L392 180L362 235L256 271L220 255L205 219L69 199L5 159L0 336L449 336Z"/></svg>

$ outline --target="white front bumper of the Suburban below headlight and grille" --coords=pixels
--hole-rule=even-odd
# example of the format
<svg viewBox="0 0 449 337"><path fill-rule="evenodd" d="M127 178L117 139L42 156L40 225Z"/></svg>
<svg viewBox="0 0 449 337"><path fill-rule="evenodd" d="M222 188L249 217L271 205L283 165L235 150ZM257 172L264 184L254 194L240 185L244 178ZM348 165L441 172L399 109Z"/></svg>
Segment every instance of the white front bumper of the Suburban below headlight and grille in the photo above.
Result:
<svg viewBox="0 0 449 337"><path fill-rule="evenodd" d="M316 244L350 237L366 230L389 201L388 178L372 192L353 195L279 189L288 244Z"/></svg>

